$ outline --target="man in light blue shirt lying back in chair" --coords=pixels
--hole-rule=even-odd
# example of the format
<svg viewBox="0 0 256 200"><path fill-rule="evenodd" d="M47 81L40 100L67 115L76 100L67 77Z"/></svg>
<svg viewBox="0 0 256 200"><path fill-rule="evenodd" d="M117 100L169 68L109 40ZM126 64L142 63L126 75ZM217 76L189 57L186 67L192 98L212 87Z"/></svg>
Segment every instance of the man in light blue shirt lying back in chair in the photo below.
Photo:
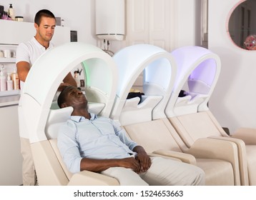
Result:
<svg viewBox="0 0 256 200"><path fill-rule="evenodd" d="M72 106L71 118L61 126L58 147L72 173L88 170L112 176L120 185L204 185L197 166L149 157L112 119L87 110L87 98L74 86L59 94L60 108Z"/></svg>

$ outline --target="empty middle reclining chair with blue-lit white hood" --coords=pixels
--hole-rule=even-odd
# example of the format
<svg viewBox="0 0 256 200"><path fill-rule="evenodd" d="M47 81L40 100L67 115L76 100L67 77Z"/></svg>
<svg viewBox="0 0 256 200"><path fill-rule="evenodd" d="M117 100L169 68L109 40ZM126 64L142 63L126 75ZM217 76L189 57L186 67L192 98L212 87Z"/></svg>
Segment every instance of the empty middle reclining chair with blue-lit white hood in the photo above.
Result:
<svg viewBox="0 0 256 200"><path fill-rule="evenodd" d="M171 54L157 46L137 44L117 52L113 59L119 84L110 117L124 126L132 140L154 156L172 156L199 166L205 171L207 185L240 185L237 146L230 141L200 139L187 148L169 123L164 109L177 72ZM138 97L127 99L127 95L142 71L145 95L138 104Z"/></svg>

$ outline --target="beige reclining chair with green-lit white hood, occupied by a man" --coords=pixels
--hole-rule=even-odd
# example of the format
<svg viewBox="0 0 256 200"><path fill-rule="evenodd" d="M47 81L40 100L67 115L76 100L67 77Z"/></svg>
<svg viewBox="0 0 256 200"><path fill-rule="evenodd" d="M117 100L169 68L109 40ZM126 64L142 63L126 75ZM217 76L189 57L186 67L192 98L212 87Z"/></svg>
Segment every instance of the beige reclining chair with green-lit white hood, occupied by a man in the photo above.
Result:
<svg viewBox="0 0 256 200"><path fill-rule="evenodd" d="M69 119L73 108L57 109L56 102L52 101L64 76L78 64L84 67L87 76L85 92L89 111L109 116L112 109L117 66L101 49L69 43L47 51L36 61L21 94L19 123L29 131L39 185L119 185L117 179L92 171L71 174L56 146L58 128ZM40 81L41 77L44 81Z"/></svg>

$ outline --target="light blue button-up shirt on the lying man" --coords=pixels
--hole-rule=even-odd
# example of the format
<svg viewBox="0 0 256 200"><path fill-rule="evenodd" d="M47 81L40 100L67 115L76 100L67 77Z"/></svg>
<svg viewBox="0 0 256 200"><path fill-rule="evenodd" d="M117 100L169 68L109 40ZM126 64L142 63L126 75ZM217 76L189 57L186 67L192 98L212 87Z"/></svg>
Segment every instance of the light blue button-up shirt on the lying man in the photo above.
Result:
<svg viewBox="0 0 256 200"><path fill-rule="evenodd" d="M89 159L124 159L134 156L137 143L127 137L126 131L112 119L91 114L71 116L58 134L58 147L67 168L72 173L80 171L83 157Z"/></svg>

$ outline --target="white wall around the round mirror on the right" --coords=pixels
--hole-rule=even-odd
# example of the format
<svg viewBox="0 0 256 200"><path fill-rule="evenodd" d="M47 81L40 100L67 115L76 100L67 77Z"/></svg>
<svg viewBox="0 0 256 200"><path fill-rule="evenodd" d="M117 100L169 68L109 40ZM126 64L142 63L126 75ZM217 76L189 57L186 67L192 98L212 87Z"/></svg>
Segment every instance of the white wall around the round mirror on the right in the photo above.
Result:
<svg viewBox="0 0 256 200"><path fill-rule="evenodd" d="M210 0L209 49L220 56L222 70L210 99L210 109L231 133L238 127L256 128L256 51L237 47L227 32L230 11L239 0Z"/></svg>

